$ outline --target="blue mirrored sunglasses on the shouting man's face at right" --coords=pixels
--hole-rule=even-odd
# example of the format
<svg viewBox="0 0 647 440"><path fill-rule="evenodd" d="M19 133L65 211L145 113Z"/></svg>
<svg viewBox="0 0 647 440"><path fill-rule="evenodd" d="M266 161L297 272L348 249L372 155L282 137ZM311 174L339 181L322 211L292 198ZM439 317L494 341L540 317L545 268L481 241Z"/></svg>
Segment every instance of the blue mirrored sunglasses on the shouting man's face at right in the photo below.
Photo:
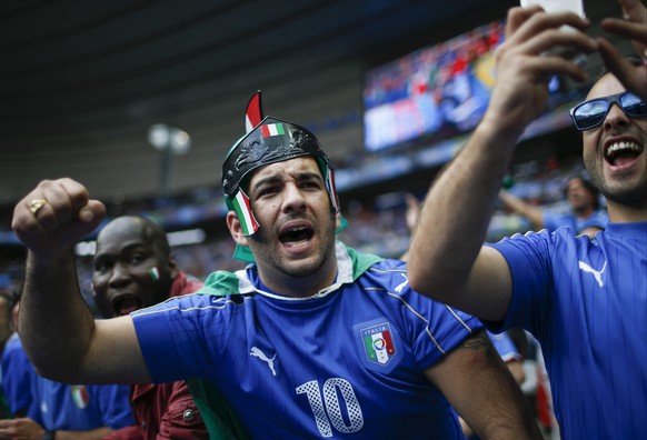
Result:
<svg viewBox="0 0 647 440"><path fill-rule="evenodd" d="M570 119L579 131L590 130L603 123L613 103L631 118L647 117L647 104L640 98L630 92L611 94L606 98L596 98L570 109Z"/></svg>

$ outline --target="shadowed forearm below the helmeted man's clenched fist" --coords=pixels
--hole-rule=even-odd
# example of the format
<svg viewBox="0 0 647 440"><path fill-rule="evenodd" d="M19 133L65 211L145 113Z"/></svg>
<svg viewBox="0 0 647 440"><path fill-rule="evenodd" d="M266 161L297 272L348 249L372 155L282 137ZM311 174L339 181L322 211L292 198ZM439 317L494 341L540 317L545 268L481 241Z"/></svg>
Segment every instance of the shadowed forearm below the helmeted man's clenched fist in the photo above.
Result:
<svg viewBox="0 0 647 440"><path fill-rule="evenodd" d="M80 293L72 252L28 253L20 303L20 338L38 372L66 381L81 363L94 328Z"/></svg>

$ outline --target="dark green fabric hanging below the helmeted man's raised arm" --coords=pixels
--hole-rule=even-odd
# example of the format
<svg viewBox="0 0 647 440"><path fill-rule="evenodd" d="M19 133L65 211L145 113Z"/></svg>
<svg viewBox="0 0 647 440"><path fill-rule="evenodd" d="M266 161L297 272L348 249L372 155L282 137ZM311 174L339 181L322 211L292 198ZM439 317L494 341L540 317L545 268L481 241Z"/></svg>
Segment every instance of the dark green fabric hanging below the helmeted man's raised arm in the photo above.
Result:
<svg viewBox="0 0 647 440"><path fill-rule="evenodd" d="M187 380L187 384L211 440L250 439L242 422L216 387L201 379Z"/></svg>

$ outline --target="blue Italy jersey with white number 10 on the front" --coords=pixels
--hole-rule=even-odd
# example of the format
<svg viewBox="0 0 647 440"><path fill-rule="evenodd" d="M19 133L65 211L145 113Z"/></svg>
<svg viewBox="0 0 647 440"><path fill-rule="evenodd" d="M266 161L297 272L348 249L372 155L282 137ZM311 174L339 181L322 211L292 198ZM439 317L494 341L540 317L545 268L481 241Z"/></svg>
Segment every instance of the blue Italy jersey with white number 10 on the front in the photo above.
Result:
<svg viewBox="0 0 647 440"><path fill-rule="evenodd" d="M262 291L251 266L133 312L152 378L208 380L255 438L461 438L425 369L480 322L411 291L400 261L337 258L308 299Z"/></svg>

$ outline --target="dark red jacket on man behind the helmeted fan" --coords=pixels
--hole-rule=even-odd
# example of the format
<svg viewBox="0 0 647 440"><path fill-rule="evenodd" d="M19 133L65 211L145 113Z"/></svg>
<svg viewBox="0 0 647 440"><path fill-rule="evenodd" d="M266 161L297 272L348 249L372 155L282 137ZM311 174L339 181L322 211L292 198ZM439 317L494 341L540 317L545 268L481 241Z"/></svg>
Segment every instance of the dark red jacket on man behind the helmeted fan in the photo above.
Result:
<svg viewBox="0 0 647 440"><path fill-rule="evenodd" d="M189 281L180 272L171 286L171 297L192 293L201 282ZM138 426L113 431L109 440L209 439L202 417L181 380L171 383L132 386L132 412Z"/></svg>

